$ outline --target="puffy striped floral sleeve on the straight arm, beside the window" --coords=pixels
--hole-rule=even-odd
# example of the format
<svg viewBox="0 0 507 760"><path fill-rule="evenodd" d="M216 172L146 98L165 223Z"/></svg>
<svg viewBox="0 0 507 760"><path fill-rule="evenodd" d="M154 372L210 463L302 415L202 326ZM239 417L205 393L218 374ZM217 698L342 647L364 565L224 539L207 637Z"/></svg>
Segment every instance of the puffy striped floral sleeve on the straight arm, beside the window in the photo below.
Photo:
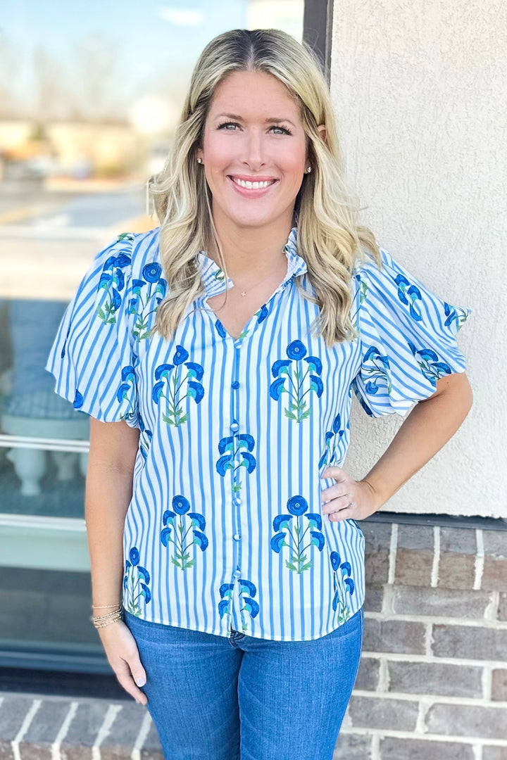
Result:
<svg viewBox="0 0 507 760"><path fill-rule="evenodd" d="M128 315L132 247L125 233L93 260L69 303L46 369L55 392L101 422L138 426L136 356Z"/></svg>

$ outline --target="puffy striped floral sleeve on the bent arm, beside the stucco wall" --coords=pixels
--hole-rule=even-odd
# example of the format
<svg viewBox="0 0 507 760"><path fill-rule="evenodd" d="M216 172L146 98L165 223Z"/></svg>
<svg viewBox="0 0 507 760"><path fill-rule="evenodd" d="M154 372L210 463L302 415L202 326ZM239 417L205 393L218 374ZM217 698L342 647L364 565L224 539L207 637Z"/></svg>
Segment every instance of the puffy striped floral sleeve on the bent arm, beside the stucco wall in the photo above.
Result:
<svg viewBox="0 0 507 760"><path fill-rule="evenodd" d="M368 261L353 276L361 365L352 387L370 416L404 415L436 391L436 382L464 372L456 333L470 309L431 293L381 249L382 268Z"/></svg>

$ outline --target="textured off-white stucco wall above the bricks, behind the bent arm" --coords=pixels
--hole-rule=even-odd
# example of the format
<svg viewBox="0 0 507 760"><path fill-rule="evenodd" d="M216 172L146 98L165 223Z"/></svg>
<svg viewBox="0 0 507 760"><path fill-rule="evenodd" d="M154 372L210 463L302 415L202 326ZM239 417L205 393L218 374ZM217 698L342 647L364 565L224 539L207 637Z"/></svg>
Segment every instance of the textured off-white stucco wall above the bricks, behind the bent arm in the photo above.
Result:
<svg viewBox="0 0 507 760"><path fill-rule="evenodd" d="M332 53L363 223L435 293L473 311L458 334L473 410L385 509L505 518L507 4L337 0ZM356 406L348 470L366 473L400 423Z"/></svg>

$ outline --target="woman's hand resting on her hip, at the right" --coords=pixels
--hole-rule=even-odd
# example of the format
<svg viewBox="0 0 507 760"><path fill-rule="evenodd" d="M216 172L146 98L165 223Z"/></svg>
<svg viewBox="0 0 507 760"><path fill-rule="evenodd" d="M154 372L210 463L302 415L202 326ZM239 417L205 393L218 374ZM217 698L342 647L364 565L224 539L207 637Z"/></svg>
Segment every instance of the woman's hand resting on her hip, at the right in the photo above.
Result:
<svg viewBox="0 0 507 760"><path fill-rule="evenodd" d="M367 480L353 480L341 467L326 467L323 478L336 482L321 491L322 514L338 520L363 520L382 506Z"/></svg>

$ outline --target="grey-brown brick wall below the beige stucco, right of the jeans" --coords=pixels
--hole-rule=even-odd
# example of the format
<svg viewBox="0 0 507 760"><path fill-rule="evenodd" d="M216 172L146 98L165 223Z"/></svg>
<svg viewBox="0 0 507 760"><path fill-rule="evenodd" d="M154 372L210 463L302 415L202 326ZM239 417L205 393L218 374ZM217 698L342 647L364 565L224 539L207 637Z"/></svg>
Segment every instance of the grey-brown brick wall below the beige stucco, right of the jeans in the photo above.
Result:
<svg viewBox="0 0 507 760"><path fill-rule="evenodd" d="M336 760L507 760L507 532L367 521Z"/></svg>

